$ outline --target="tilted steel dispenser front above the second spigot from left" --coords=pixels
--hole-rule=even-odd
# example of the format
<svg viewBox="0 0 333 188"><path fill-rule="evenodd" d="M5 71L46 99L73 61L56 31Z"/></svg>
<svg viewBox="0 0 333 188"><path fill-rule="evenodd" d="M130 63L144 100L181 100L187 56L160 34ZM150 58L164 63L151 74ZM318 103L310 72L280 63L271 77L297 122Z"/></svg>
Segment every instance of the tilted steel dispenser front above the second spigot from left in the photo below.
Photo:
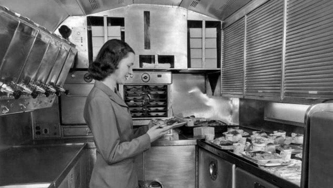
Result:
<svg viewBox="0 0 333 188"><path fill-rule="evenodd" d="M25 84L29 84L30 81L35 78L38 67L42 62L43 56L51 39L52 37L50 35L40 30L27 62L25 63L22 73L18 79L18 83L23 82Z"/></svg>

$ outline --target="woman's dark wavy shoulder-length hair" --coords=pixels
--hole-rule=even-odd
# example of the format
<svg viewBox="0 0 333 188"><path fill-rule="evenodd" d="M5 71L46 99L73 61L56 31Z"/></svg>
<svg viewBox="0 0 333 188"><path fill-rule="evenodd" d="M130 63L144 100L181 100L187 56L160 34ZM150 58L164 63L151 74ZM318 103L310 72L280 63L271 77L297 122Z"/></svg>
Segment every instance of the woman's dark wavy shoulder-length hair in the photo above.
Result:
<svg viewBox="0 0 333 188"><path fill-rule="evenodd" d="M118 69L119 61L129 52L135 53L126 42L118 39L108 40L98 52L96 60L89 65L90 76L95 80L103 80Z"/></svg>

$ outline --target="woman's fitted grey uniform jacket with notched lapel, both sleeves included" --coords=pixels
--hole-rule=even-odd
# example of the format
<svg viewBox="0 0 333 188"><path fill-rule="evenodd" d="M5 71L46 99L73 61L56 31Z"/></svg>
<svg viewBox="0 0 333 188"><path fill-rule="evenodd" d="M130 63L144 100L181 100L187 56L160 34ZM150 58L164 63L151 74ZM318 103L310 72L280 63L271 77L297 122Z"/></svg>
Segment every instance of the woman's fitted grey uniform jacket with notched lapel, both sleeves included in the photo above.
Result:
<svg viewBox="0 0 333 188"><path fill-rule="evenodd" d="M97 148L90 188L137 187L134 158L150 149L148 128L133 132L129 108L115 90L96 80L85 104L83 116Z"/></svg>

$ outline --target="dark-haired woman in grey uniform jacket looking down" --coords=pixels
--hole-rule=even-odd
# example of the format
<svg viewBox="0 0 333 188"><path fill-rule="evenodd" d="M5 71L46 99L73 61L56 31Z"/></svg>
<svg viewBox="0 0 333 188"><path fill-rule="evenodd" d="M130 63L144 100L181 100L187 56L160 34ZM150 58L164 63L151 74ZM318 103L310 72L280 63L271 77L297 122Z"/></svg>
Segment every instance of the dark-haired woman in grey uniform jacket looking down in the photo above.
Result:
<svg viewBox="0 0 333 188"><path fill-rule="evenodd" d="M134 158L150 149L150 143L169 128L153 126L133 132L128 106L116 89L133 73L134 51L125 42L112 39L89 66L95 79L84 109L84 119L96 144L96 164L90 187L135 188L138 186Z"/></svg>

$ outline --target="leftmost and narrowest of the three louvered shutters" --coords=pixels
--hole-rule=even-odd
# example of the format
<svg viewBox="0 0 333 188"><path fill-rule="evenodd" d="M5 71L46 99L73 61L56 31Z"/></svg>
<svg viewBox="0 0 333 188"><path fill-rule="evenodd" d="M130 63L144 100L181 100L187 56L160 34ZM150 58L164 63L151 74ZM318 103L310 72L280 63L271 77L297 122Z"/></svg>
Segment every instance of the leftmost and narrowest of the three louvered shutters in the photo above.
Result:
<svg viewBox="0 0 333 188"><path fill-rule="evenodd" d="M222 96L243 97L244 18L223 30Z"/></svg>

